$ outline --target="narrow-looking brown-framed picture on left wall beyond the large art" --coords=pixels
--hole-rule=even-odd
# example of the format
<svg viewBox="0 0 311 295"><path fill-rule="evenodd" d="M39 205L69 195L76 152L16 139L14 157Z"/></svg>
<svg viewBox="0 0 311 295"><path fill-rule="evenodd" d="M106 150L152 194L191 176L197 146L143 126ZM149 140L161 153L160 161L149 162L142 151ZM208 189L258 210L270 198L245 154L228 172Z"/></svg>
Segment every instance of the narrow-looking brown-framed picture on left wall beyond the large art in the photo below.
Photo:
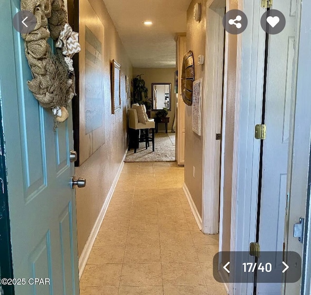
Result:
<svg viewBox="0 0 311 295"><path fill-rule="evenodd" d="M115 114L121 110L121 65L112 60L111 73L111 111Z"/></svg>

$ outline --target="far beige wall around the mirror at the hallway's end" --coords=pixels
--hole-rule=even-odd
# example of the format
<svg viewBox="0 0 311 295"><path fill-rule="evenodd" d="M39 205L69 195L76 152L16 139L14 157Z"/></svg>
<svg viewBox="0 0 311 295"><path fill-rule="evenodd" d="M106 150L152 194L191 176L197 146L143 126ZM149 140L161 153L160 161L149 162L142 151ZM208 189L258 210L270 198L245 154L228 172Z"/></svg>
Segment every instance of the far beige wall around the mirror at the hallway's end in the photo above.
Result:
<svg viewBox="0 0 311 295"><path fill-rule="evenodd" d="M133 69L133 77L137 75L144 74L142 79L145 80L146 87L148 88L148 96L151 97L152 95L152 83L171 83L172 90L171 90L171 111L169 111L168 117L170 117L170 123L168 124L168 131L172 130L173 120L175 116L175 100L176 96L174 93L174 73L175 68L173 69L148 69L148 68L134 68ZM151 118L155 117L155 112L151 112ZM165 130L164 124L159 124L159 130Z"/></svg>

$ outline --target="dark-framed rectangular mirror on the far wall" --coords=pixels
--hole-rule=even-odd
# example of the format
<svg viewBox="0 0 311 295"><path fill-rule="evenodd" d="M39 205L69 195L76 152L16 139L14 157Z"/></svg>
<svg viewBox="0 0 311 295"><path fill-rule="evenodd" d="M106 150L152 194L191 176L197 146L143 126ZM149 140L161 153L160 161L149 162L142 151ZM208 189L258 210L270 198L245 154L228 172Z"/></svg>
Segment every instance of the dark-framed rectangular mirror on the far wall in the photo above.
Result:
<svg viewBox="0 0 311 295"><path fill-rule="evenodd" d="M152 83L152 110L171 110L171 83Z"/></svg>

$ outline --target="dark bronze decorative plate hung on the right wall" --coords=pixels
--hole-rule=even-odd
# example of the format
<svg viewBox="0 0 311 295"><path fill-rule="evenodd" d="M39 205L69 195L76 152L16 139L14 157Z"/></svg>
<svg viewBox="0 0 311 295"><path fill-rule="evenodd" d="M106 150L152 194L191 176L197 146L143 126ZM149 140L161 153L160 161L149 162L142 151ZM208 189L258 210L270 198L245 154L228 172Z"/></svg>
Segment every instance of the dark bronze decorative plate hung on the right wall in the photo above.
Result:
<svg viewBox="0 0 311 295"><path fill-rule="evenodd" d="M193 53L189 51L184 56L183 69L181 73L182 97L185 104L192 104L192 88L194 81Z"/></svg>

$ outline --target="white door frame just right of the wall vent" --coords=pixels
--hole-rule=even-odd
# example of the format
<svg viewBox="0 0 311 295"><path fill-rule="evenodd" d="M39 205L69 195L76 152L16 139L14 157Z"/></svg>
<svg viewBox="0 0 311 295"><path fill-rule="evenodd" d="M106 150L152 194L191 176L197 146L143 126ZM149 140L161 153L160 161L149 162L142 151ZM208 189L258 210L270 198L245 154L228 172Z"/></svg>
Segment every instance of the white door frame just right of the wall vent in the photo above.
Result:
<svg viewBox="0 0 311 295"><path fill-rule="evenodd" d="M203 100L203 179L202 179L202 232L204 234L217 234L219 232L219 198L220 162L224 156L224 149L221 148L221 155L217 155L216 133L217 121L220 114L217 113L220 99L223 98L225 105L226 93L223 91L224 80L224 27L222 25L225 15L225 0L207 0L206 2L206 62L205 62L205 98ZM211 10L214 13L211 13ZM215 10L220 15L215 13ZM212 26L211 23L219 26ZM220 50L221 49L221 50ZM219 53L221 52L221 54ZM212 89L211 87L212 86ZM214 87L216 86L216 87ZM224 92L224 97L223 97ZM221 106L223 108L223 106ZM225 117L225 116L223 116ZM222 138L225 138L224 131ZM214 144L211 144L214 143ZM222 145L222 141L220 142ZM216 168L216 169L215 169ZM221 171L224 169L222 167Z"/></svg>

